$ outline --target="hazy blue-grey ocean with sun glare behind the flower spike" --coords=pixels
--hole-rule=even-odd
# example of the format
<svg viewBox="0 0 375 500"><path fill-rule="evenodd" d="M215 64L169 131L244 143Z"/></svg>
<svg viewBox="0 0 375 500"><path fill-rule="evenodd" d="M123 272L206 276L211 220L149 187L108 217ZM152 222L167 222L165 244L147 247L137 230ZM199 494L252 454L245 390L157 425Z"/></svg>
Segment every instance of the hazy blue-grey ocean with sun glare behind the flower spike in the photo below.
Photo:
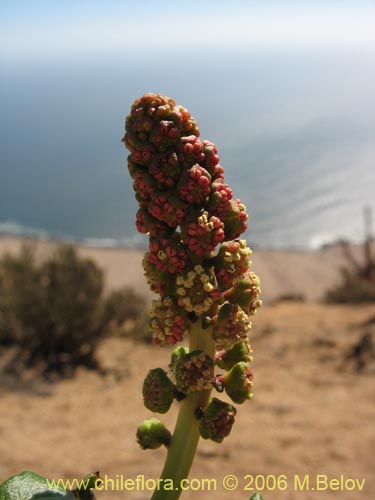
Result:
<svg viewBox="0 0 375 500"><path fill-rule="evenodd" d="M373 56L187 47L0 61L0 232L144 243L120 141L134 99L161 92L216 143L250 245L360 240L363 209L375 209Z"/></svg>

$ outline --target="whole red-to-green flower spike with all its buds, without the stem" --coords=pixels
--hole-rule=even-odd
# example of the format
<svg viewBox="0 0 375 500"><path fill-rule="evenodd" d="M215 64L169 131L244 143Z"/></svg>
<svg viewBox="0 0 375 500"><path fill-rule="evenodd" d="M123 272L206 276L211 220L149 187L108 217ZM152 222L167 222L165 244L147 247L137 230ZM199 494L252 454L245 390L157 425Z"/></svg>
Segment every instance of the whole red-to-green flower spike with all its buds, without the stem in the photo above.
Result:
<svg viewBox="0 0 375 500"><path fill-rule="evenodd" d="M224 181L216 146L199 139L196 121L173 99L145 94L132 105L125 129L139 203L136 226L149 235L143 267L159 295L150 314L153 342L173 345L200 321L217 351L212 359L176 348L169 374L155 369L146 377L145 405L165 413L173 398L210 388L243 403L252 395L250 317L261 305L251 250L239 239L247 229L246 208ZM215 376L215 364L227 373ZM202 437L222 441L235 413L232 405L211 399L201 415Z"/></svg>

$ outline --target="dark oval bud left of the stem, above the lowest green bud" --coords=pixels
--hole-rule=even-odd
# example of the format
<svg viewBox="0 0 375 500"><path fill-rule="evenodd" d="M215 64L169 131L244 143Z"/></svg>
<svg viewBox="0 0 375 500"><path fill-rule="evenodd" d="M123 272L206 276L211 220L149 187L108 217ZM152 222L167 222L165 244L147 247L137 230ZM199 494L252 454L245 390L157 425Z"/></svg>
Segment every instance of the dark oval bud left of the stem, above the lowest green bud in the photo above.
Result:
<svg viewBox="0 0 375 500"><path fill-rule="evenodd" d="M150 370L143 382L142 394L146 408L156 413L167 413L176 388L162 368Z"/></svg>

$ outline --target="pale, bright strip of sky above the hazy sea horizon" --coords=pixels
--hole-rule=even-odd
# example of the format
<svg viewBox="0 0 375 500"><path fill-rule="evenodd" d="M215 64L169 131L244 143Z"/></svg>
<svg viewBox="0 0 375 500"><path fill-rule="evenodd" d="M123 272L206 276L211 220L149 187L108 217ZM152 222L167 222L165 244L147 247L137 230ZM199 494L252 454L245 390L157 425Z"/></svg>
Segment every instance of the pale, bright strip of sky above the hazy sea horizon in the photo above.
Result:
<svg viewBox="0 0 375 500"><path fill-rule="evenodd" d="M375 48L368 0L0 0L0 58Z"/></svg>

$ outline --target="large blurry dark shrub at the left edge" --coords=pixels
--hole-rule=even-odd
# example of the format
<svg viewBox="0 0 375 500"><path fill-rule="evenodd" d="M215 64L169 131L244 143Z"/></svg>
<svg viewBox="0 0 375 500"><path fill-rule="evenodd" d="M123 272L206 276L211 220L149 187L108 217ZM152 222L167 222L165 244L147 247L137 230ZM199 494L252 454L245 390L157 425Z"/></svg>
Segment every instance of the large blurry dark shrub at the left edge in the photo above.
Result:
<svg viewBox="0 0 375 500"><path fill-rule="evenodd" d="M12 365L46 370L95 364L103 335L103 273L70 246L41 264L30 248L0 261L0 343L13 345Z"/></svg>

